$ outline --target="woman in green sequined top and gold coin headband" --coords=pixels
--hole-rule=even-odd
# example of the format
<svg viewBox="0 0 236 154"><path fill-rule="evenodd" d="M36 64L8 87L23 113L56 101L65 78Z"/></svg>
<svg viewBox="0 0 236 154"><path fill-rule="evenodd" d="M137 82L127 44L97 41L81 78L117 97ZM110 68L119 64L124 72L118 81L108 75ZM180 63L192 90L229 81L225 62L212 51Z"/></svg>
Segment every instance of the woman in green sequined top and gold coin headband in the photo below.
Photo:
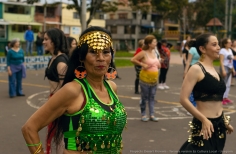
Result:
<svg viewBox="0 0 236 154"><path fill-rule="evenodd" d="M127 114L117 97L116 84L107 80L116 75L112 54L107 30L90 27L81 34L63 87L22 128L32 154L43 154L38 132L51 122L56 146L64 139L64 154L121 153Z"/></svg>

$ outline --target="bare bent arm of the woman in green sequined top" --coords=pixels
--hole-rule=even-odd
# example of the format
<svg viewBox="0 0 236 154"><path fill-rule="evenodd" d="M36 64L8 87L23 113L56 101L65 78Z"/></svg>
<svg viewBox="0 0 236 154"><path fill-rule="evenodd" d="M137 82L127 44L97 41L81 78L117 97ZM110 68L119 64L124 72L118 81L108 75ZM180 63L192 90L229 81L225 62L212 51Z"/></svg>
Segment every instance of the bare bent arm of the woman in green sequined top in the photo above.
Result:
<svg viewBox="0 0 236 154"><path fill-rule="evenodd" d="M38 132L56 118L74 108L73 102L75 102L78 96L82 96L81 86L80 88L79 86L79 84L73 82L66 84L26 121L22 127L22 134L26 144L40 143ZM38 146L28 146L28 148L34 154ZM43 153L43 150L41 153Z"/></svg>

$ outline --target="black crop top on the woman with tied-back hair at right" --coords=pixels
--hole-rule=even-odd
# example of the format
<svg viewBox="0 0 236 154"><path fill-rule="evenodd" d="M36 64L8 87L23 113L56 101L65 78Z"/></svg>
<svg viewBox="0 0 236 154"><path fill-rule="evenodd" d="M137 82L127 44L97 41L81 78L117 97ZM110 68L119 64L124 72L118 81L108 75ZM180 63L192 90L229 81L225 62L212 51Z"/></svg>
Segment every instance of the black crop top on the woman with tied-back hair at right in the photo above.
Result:
<svg viewBox="0 0 236 154"><path fill-rule="evenodd" d="M199 65L205 77L196 83L193 88L193 97L195 101L222 101L226 89L224 80L220 77L220 81L208 73L201 63Z"/></svg>

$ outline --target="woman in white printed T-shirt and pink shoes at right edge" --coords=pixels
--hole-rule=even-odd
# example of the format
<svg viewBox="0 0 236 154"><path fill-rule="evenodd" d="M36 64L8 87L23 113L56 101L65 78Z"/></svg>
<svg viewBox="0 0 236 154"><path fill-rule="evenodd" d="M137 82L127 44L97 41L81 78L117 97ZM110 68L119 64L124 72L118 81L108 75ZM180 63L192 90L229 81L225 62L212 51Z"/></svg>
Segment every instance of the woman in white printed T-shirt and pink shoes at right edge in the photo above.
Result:
<svg viewBox="0 0 236 154"><path fill-rule="evenodd" d="M224 93L224 99L222 101L223 105L232 104L233 101L228 98L229 91L230 91L230 84L232 73L235 74L235 70L233 67L233 52L230 49L231 47L231 40L225 38L222 40L222 49L220 50L220 73L224 78L226 84L226 91Z"/></svg>

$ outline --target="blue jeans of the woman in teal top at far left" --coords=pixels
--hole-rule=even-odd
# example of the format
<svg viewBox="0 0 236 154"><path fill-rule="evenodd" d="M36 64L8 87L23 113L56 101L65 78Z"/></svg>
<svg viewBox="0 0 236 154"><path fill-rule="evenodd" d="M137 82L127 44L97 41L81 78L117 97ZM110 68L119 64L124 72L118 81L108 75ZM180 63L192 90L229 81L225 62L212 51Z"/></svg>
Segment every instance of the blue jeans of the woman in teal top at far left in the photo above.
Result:
<svg viewBox="0 0 236 154"><path fill-rule="evenodd" d="M22 93L22 70L12 73L8 76L9 80L9 96L16 96Z"/></svg>

